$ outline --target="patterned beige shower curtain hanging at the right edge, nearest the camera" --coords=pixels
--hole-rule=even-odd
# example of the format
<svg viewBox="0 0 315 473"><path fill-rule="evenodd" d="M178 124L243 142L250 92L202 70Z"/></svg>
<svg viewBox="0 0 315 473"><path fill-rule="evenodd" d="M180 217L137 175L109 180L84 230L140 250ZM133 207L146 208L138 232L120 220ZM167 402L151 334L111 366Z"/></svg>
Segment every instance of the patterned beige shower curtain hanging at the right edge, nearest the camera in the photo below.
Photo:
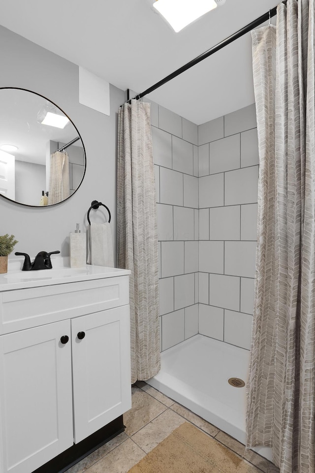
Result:
<svg viewBox="0 0 315 473"><path fill-rule="evenodd" d="M315 7L288 0L252 32L259 145L247 445L315 472Z"/></svg>

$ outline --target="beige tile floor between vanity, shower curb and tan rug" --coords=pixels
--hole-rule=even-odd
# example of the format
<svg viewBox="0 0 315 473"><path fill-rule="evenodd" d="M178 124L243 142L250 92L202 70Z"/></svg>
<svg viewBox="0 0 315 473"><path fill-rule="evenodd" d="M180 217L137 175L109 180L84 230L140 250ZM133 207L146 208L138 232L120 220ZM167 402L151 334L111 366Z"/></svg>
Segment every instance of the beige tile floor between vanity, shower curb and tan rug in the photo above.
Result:
<svg viewBox="0 0 315 473"><path fill-rule="evenodd" d="M132 408L124 414L126 430L66 473L127 473L183 422L190 422L251 464L252 473L279 473L265 458L143 381L132 386Z"/></svg>

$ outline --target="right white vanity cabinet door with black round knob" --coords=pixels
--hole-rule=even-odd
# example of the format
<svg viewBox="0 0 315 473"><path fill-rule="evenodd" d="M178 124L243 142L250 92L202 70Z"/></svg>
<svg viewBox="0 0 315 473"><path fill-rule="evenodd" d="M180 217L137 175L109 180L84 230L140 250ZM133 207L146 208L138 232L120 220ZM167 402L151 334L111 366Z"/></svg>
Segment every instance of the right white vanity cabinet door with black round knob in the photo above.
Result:
<svg viewBox="0 0 315 473"><path fill-rule="evenodd" d="M78 443L131 407L129 305L72 319L71 333Z"/></svg>

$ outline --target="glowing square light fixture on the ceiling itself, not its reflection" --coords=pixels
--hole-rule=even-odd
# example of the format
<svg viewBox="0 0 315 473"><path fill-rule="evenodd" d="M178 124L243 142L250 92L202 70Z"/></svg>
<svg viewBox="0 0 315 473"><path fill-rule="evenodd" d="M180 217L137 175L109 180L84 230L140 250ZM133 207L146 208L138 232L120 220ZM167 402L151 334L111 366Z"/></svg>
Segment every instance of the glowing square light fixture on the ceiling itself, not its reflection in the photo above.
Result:
<svg viewBox="0 0 315 473"><path fill-rule="evenodd" d="M157 0L153 6L178 33L218 5L215 0Z"/></svg>

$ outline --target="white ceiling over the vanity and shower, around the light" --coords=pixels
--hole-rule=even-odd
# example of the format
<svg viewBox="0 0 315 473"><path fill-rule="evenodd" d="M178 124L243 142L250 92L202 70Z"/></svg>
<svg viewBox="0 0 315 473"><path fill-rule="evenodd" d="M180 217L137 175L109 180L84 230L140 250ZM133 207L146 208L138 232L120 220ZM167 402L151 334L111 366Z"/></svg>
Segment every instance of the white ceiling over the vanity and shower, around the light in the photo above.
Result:
<svg viewBox="0 0 315 473"><path fill-rule="evenodd" d="M153 1L3 1L0 24L122 90L140 93L280 2L226 0L175 33ZM197 125L253 103L251 34L148 98Z"/></svg>

